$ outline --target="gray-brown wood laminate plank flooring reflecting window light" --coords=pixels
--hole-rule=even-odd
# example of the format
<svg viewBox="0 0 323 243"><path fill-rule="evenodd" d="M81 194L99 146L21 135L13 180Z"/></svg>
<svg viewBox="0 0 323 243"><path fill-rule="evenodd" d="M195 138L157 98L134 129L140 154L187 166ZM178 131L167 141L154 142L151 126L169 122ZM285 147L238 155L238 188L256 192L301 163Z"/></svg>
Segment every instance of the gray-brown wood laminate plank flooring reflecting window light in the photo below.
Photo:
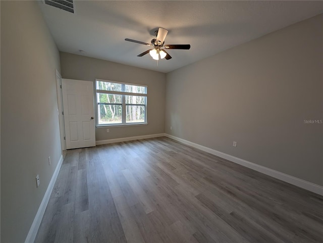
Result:
<svg viewBox="0 0 323 243"><path fill-rule="evenodd" d="M35 242L323 242L323 197L165 137L74 149Z"/></svg>

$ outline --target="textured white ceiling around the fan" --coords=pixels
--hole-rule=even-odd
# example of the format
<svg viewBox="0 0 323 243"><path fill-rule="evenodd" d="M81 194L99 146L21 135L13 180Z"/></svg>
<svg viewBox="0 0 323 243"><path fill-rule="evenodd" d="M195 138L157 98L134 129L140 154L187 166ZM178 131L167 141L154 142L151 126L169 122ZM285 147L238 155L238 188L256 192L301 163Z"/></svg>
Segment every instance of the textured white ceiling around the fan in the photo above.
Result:
<svg viewBox="0 0 323 243"><path fill-rule="evenodd" d="M71 14L39 1L60 51L168 73L323 12L322 1L74 1ZM169 30L169 50L158 63L148 46L158 27ZM79 50L84 50L80 53Z"/></svg>

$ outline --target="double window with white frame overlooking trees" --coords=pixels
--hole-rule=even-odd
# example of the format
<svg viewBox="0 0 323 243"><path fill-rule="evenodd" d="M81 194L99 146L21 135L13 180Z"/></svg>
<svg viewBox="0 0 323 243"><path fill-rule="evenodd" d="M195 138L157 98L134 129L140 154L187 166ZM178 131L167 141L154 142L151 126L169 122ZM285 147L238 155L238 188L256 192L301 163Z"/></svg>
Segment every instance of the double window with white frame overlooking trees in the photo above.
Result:
<svg viewBox="0 0 323 243"><path fill-rule="evenodd" d="M97 125L146 123L147 86L96 80Z"/></svg>

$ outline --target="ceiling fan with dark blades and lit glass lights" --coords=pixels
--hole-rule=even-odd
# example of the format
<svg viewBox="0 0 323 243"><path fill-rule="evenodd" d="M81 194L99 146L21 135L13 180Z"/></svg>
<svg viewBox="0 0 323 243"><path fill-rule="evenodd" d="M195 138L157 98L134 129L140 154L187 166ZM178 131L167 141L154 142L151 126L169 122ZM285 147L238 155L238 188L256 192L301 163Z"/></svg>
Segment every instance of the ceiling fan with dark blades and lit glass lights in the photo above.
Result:
<svg viewBox="0 0 323 243"><path fill-rule="evenodd" d="M167 33L168 33L168 30L164 29L164 28L159 28L158 30L156 30L155 31L156 38L151 40L151 44L146 43L146 42L142 42L142 41L138 41L138 40L128 39L128 38L126 38L125 40L135 42L138 44L152 46L153 48L146 50L137 56L143 56L143 55L149 53L151 55L151 57L155 60L158 60L159 56L160 56L160 59L163 59L164 57L167 60L171 59L172 56L170 56L170 54L167 53L166 49L189 50L191 48L191 45L164 45L164 41L165 41Z"/></svg>

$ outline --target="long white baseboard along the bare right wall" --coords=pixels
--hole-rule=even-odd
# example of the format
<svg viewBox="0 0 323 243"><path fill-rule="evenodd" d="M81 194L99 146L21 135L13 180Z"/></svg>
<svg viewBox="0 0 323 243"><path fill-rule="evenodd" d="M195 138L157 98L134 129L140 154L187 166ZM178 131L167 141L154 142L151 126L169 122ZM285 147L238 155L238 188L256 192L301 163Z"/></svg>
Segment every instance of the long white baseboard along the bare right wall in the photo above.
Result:
<svg viewBox="0 0 323 243"><path fill-rule="evenodd" d="M169 135L169 134L165 134L165 137L174 139L174 140L176 140L178 142L181 142L183 144L186 144L186 145L192 146L194 148L200 149L202 151L208 152L210 154L219 156L221 158L224 158L224 159L227 159L227 160L232 161L234 163L243 165L243 166L248 167L250 169L259 171L259 172L261 172L263 174L270 175L270 176L272 176L274 178L283 180L283 181L285 181L285 182L287 182L289 184L292 184L294 186L303 188L305 190L308 190L310 192L313 192L313 193L316 193L316 194L319 194L319 195L323 196L323 187L321 187L319 185L316 185L316 184L313 184L313 183L310 183L309 181L306 181L306 180L303 180L303 179L300 179L300 178L297 178L297 177L282 173L282 172L274 170L274 169L264 167L262 165L258 165L258 164L249 162L249 161L244 160L244 159L237 158L237 157L232 156L230 154L222 153L220 151L217 151L217 150L214 150L214 149L211 149L211 148L208 148L208 147L204 147L204 146L196 144L196 143L192 143L190 141L187 141L187 140L184 140L184 139L181 139L181 138Z"/></svg>

